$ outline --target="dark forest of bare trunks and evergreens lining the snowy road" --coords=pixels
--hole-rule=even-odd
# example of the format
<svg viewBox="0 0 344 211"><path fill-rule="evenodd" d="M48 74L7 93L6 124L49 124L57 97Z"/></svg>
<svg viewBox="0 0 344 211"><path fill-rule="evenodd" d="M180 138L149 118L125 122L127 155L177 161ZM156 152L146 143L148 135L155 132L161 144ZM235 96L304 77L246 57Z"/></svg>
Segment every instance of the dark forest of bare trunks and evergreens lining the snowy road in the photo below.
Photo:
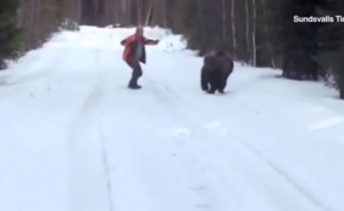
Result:
<svg viewBox="0 0 344 211"><path fill-rule="evenodd" d="M0 69L58 30L158 25L183 34L201 56L224 49L285 78L329 82L344 99L344 23L294 21L343 12L342 0L1 0Z"/></svg>

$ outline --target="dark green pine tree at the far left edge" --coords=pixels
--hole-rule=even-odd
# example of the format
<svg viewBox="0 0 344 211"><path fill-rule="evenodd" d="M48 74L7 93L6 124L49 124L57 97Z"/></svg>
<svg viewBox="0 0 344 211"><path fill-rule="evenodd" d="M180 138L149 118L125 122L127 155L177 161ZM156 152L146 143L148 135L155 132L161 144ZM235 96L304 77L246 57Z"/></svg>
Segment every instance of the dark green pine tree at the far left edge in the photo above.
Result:
<svg viewBox="0 0 344 211"><path fill-rule="evenodd" d="M5 60L16 57L19 47L19 29L16 27L18 1L0 2L0 70L5 68Z"/></svg>

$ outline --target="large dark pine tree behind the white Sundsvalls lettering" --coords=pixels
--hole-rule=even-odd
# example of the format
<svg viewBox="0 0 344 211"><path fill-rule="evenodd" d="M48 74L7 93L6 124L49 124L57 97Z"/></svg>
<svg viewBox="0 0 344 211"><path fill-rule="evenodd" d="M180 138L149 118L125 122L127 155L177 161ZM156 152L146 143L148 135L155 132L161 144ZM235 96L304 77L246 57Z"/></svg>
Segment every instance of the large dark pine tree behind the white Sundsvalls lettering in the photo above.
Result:
<svg viewBox="0 0 344 211"><path fill-rule="evenodd" d="M324 0L325 1L325 0ZM274 53L282 59L282 75L296 80L317 80L320 23L295 23L294 17L316 16L321 0L270 1L270 35Z"/></svg>

